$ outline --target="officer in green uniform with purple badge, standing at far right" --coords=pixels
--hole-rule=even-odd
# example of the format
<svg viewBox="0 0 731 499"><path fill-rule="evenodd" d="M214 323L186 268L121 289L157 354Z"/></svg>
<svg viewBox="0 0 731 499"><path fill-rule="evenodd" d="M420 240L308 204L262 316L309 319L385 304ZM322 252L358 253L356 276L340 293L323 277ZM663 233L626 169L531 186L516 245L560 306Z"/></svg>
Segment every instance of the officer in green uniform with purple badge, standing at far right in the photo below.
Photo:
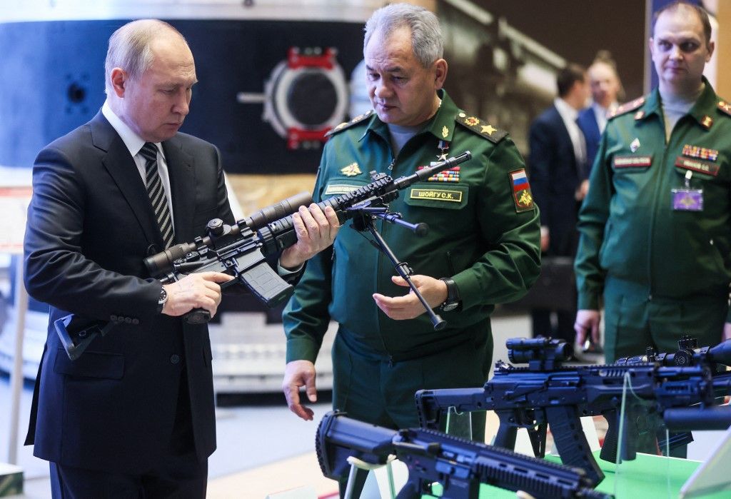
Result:
<svg viewBox="0 0 731 499"><path fill-rule="evenodd" d="M607 361L730 338L731 106L702 76L713 53L701 7L670 4L649 40L659 88L607 124L578 228L577 341Z"/></svg>

